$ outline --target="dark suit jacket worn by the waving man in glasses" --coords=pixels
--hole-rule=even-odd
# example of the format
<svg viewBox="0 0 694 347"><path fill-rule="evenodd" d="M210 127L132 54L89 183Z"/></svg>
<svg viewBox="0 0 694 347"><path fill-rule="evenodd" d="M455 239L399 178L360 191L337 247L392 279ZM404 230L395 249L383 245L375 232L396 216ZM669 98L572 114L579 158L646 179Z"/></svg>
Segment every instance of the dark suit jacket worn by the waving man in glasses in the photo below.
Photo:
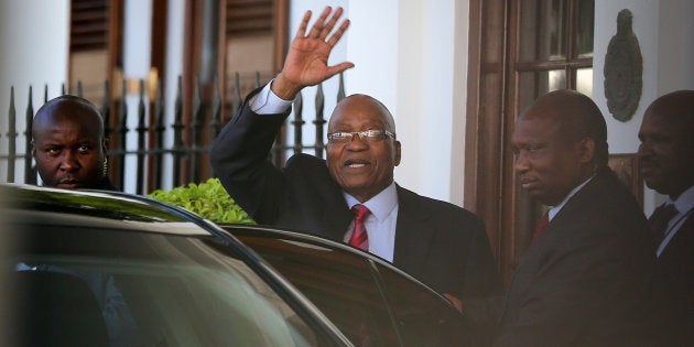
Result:
<svg viewBox="0 0 694 347"><path fill-rule="evenodd" d="M288 115L256 115L247 101L213 143L215 175L257 223L343 241L353 214L325 160L297 154L283 170L267 161ZM457 297L500 291L487 234L477 216L397 189L395 267Z"/></svg>

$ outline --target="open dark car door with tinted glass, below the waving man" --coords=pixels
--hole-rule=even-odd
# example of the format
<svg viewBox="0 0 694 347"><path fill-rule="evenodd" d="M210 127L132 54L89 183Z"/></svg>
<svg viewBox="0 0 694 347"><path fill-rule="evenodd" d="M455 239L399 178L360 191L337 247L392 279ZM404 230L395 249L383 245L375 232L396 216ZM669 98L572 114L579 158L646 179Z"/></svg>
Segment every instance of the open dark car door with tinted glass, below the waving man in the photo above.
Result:
<svg viewBox="0 0 694 347"><path fill-rule="evenodd" d="M470 346L473 332L443 296L345 243L268 227L223 225L260 253L356 345Z"/></svg>

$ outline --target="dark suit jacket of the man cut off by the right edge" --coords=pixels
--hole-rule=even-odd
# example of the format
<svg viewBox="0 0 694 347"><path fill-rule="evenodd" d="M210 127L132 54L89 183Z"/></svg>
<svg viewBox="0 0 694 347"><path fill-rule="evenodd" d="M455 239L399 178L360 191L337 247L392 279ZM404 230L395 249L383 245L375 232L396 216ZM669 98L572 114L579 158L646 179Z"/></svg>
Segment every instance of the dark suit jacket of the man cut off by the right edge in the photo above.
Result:
<svg viewBox="0 0 694 347"><path fill-rule="evenodd" d="M663 345L694 346L694 214L655 261L653 284Z"/></svg>

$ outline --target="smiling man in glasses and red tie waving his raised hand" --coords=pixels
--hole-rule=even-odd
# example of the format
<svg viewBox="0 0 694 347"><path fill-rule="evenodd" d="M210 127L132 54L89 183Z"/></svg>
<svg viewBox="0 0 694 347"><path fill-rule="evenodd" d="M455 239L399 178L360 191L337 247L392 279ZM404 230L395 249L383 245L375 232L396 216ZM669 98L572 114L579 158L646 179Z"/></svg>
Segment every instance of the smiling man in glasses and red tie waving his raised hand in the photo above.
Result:
<svg viewBox="0 0 694 347"><path fill-rule="evenodd" d="M312 13L305 13L282 71L249 95L215 139L215 175L259 224L362 248L454 303L500 292L481 219L393 181L402 147L392 115L377 99L353 95L338 102L327 126L327 160L296 154L282 170L267 161L296 94L354 67L327 65L349 25L336 25L341 8L328 20L330 12L326 8L308 31Z"/></svg>

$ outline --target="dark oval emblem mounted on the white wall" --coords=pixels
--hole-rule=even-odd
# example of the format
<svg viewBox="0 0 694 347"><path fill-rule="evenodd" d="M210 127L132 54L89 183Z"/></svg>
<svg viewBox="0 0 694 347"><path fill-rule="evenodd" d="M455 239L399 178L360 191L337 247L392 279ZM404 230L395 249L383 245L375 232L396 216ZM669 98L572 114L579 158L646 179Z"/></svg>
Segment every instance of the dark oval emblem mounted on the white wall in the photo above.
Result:
<svg viewBox="0 0 694 347"><path fill-rule="evenodd" d="M631 11L619 11L617 34L607 46L603 72L607 108L619 121L630 120L641 99L643 61L639 41L631 28L632 18Z"/></svg>

